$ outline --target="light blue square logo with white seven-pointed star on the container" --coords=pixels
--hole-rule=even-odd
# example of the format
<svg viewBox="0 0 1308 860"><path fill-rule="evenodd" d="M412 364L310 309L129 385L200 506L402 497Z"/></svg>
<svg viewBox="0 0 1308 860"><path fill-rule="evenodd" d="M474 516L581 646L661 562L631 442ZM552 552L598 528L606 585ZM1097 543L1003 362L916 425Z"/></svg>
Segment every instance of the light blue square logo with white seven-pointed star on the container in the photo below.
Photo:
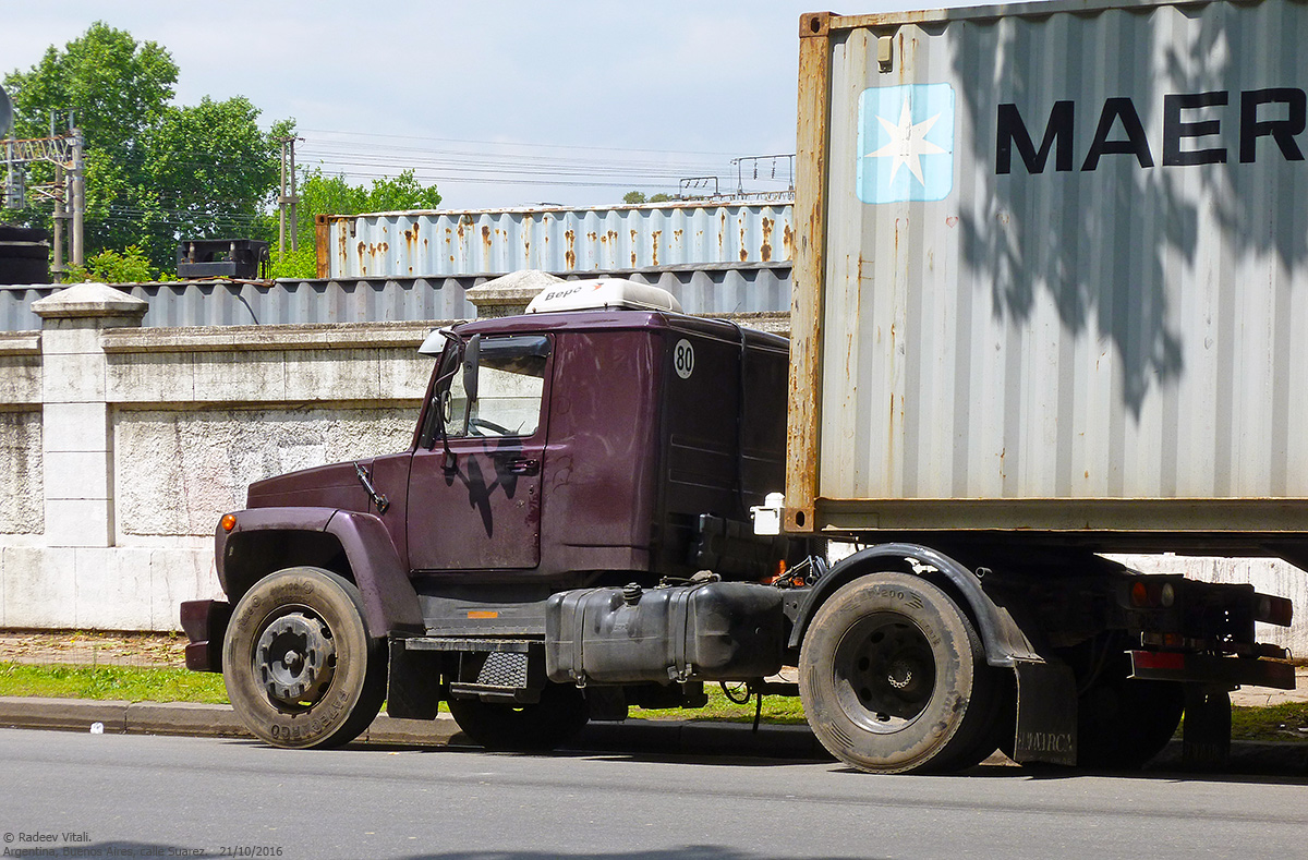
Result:
<svg viewBox="0 0 1308 860"><path fill-rule="evenodd" d="M954 88L910 84L858 99L858 199L944 200L954 190Z"/></svg>

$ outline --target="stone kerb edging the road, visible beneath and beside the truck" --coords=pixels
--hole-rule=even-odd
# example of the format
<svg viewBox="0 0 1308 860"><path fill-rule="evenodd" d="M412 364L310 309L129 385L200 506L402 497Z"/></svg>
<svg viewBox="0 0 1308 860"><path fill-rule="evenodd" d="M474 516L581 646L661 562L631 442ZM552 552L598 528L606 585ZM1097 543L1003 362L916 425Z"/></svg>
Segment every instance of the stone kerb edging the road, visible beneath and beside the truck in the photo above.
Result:
<svg viewBox="0 0 1308 860"><path fill-rule="evenodd" d="M251 737L226 704L0 697L0 728L88 732L94 723L102 724L106 735ZM436 720L398 720L382 714L356 742L475 749L447 714ZM565 749L583 753L832 761L808 727L760 725L753 732L746 723L591 723ZM1012 762L995 753L984 766L1012 766ZM1181 770L1180 741L1172 741L1148 770ZM1041 772L1049 775L1049 771ZM1231 761L1222 775L1308 776L1308 744L1232 741Z"/></svg>

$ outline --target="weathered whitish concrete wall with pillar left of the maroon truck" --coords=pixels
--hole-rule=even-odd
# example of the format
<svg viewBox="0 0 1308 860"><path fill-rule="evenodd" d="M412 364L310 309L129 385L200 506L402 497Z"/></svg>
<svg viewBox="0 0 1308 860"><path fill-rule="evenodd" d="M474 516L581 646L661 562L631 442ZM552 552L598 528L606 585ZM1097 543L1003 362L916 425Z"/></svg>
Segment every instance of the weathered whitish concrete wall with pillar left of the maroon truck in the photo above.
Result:
<svg viewBox="0 0 1308 860"><path fill-rule="evenodd" d="M255 480L402 451L439 323L140 328L78 285L0 335L0 627L177 630Z"/></svg>

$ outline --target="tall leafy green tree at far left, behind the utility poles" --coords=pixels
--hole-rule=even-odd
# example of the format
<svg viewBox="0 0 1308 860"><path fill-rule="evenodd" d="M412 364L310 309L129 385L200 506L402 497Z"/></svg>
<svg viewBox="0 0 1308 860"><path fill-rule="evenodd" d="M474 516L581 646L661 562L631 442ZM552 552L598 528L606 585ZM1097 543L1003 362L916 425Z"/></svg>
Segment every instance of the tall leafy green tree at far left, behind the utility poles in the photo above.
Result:
<svg viewBox="0 0 1308 860"><path fill-rule="evenodd" d="M152 265L171 269L182 238L267 238L275 139L293 124L262 133L259 111L239 97L175 106L177 76L164 47L103 22L5 76L20 136L48 135L51 111L73 111L85 136L88 259L139 243ZM50 176L38 167L30 182ZM30 207L21 220L48 225L48 210Z"/></svg>

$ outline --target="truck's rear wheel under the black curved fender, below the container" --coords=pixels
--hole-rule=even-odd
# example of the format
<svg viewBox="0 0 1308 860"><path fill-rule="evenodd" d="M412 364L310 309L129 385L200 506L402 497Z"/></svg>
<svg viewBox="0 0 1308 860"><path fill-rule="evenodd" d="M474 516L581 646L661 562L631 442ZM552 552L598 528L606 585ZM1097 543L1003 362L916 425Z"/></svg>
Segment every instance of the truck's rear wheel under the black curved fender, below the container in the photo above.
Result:
<svg viewBox="0 0 1308 860"><path fill-rule="evenodd" d="M977 763L994 752L1001 693L968 617L940 588L908 574L842 587L800 651L799 695L814 733L836 758L870 772Z"/></svg>

